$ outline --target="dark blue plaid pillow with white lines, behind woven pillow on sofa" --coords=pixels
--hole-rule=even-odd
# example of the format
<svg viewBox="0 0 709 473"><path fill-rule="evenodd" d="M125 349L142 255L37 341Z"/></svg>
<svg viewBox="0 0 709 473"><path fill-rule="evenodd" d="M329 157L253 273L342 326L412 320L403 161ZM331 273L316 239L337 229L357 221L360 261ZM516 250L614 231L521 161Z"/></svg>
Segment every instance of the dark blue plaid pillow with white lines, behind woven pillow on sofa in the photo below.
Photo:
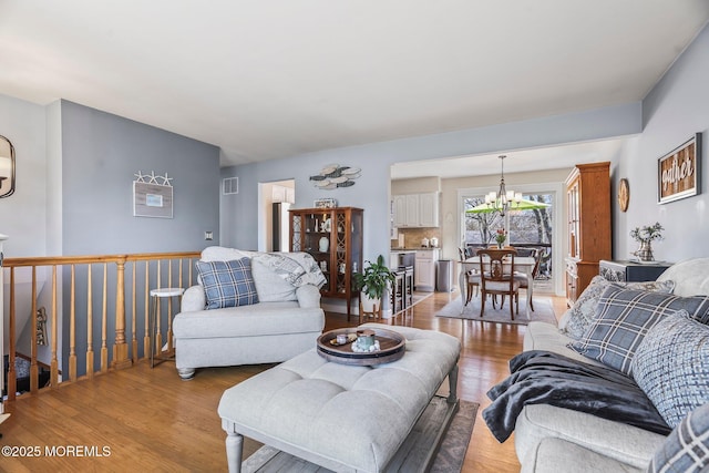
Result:
<svg viewBox="0 0 709 473"><path fill-rule="evenodd" d="M568 345L580 354L630 374L630 361L657 321L685 309L695 319L709 319L709 298L679 297L661 292L608 286L600 296L595 320L580 340Z"/></svg>

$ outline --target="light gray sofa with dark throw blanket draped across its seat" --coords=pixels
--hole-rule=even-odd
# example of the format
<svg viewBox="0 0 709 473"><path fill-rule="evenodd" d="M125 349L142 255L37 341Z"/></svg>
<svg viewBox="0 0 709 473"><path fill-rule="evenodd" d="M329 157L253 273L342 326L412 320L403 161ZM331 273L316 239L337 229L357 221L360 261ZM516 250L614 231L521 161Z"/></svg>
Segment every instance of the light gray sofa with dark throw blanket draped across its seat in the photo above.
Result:
<svg viewBox="0 0 709 473"><path fill-rule="evenodd" d="M658 281L674 281L672 294L681 297L709 295L709 258L678 263ZM558 328L531 322L524 337L524 350L548 350L603 366L567 347L574 341L563 332L567 322L564 317ZM707 409L706 404L703 409ZM672 435L677 435L676 431ZM535 473L643 472L658 451L667 449L666 439L666 435L628 424L548 404L525 405L514 431L522 472Z"/></svg>

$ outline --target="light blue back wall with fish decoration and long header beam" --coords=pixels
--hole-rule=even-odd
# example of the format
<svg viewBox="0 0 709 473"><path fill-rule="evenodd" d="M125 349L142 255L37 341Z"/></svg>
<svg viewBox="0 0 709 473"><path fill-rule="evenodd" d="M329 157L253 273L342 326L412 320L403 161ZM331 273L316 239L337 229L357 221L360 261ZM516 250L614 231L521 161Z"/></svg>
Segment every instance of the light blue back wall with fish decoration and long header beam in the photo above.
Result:
<svg viewBox="0 0 709 473"><path fill-rule="evenodd" d="M364 259L372 259L389 253L389 169L393 163L631 135L640 132L640 111L639 103L630 103L224 168L223 177L239 177L239 194L222 197L222 241L256 248L258 183L295 178L296 208L310 207L316 198L333 197L340 206L364 209ZM331 163L360 167L361 177L351 187L314 187L309 176Z"/></svg>

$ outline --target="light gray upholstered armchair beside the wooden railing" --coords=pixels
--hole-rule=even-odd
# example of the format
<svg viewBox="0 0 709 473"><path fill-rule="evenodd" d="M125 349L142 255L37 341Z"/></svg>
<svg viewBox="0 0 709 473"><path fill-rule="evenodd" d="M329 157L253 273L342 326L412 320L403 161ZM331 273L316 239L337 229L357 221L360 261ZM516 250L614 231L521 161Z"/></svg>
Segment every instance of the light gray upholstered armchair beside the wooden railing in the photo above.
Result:
<svg viewBox="0 0 709 473"><path fill-rule="evenodd" d="M319 281L325 278L310 255L214 246L204 249L201 261L240 258L250 260L258 304L207 309L202 281L183 295L173 321L182 379L192 379L197 368L281 362L312 348L322 333Z"/></svg>

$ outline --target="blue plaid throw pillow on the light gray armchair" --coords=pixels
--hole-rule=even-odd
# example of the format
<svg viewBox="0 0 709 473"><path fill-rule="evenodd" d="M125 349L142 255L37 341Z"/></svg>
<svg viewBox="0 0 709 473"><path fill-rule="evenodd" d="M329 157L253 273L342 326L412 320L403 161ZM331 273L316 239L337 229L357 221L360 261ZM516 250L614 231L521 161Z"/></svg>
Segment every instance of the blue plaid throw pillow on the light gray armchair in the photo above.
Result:
<svg viewBox="0 0 709 473"><path fill-rule="evenodd" d="M197 261L197 273L207 298L207 309L258 304L249 258Z"/></svg>

